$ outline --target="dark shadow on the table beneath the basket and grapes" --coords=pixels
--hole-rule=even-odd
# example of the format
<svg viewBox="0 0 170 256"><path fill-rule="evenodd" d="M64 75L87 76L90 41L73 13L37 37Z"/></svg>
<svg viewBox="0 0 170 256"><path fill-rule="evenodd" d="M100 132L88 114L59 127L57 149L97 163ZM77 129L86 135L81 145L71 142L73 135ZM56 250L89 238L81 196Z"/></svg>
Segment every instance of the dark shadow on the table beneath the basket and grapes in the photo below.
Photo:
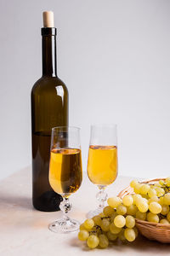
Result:
<svg viewBox="0 0 170 256"><path fill-rule="evenodd" d="M82 251L89 251L85 242L79 241L77 237L71 239L70 241L71 247L81 247ZM98 249L100 250L100 249ZM103 250L103 249L101 249ZM156 254L156 255L170 255L170 244L164 244L158 241L150 241L146 239L144 236L140 236L133 242L122 242L122 241L115 241L111 244L110 247L106 248L105 250L111 250L113 253L142 253L145 255L148 254ZM117 254L116 254L117 255ZM134 254L133 254L134 255Z"/></svg>

